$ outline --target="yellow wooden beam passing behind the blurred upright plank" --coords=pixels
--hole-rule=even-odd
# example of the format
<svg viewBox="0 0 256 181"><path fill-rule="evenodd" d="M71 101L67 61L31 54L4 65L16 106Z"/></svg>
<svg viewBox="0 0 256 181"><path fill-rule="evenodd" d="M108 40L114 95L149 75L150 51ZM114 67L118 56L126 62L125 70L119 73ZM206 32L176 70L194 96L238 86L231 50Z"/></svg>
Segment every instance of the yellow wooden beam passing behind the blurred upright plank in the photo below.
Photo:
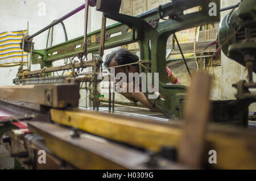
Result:
<svg viewBox="0 0 256 181"><path fill-rule="evenodd" d="M180 124L117 116L78 108L51 109L51 116L56 123L76 127L110 140L152 151L159 151L162 146L179 148L183 133ZM205 140L206 147L202 155L203 163L208 167L214 169L256 169L255 132L241 128L210 126ZM217 151L216 164L209 164L209 150Z"/></svg>

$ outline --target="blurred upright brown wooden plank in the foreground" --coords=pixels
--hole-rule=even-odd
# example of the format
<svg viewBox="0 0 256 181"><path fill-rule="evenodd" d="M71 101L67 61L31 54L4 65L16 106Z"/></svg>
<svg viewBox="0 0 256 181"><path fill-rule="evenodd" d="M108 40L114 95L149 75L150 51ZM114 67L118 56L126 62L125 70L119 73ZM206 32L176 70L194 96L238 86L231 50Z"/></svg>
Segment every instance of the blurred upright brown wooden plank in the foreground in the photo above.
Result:
<svg viewBox="0 0 256 181"><path fill-rule="evenodd" d="M193 74L184 105L184 128L179 147L179 161L200 169L204 151L205 130L210 113L210 75Z"/></svg>

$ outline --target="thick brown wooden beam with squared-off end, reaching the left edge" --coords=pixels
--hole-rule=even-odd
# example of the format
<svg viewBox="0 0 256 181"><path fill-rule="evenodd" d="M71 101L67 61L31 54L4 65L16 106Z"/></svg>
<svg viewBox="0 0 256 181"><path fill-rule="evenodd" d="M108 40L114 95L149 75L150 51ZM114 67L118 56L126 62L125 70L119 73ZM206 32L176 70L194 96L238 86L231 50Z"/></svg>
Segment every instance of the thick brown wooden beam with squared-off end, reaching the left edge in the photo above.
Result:
<svg viewBox="0 0 256 181"><path fill-rule="evenodd" d="M0 87L3 102L27 102L41 106L65 108L79 104L79 85L21 85Z"/></svg>

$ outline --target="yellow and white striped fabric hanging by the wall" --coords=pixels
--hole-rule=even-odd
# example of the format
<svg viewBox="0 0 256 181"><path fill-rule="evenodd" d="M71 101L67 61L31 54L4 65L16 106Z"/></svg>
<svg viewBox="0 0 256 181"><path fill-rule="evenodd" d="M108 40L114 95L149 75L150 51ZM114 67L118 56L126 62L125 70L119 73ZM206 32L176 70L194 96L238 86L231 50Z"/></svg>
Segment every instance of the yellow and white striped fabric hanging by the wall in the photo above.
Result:
<svg viewBox="0 0 256 181"><path fill-rule="evenodd" d="M0 66L20 64L22 49L20 49L19 43L26 33L27 30L0 33ZM23 57L27 57L27 52L23 53ZM23 62L27 63L27 58L23 59Z"/></svg>

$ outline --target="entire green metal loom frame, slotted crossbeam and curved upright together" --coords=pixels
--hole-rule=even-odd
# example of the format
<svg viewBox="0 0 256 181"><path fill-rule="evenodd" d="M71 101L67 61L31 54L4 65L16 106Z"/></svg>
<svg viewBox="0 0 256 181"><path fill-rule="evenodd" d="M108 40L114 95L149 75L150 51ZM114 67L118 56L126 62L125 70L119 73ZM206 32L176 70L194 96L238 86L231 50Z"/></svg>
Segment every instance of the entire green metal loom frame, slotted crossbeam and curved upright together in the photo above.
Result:
<svg viewBox="0 0 256 181"><path fill-rule="evenodd" d="M215 3L216 16L209 15L211 8L209 3ZM197 6L201 6L200 11L183 14L184 10ZM174 0L171 3L143 12L137 16L128 16L117 12L104 12L107 18L121 22L106 27L105 49L137 41L140 47L141 60L151 60L151 64L146 66L152 68L152 73L159 73L159 92L163 97L155 100L149 99L149 101L166 115L179 119L182 115L182 102L186 87L172 85L168 80L165 71L167 39L174 32L218 22L220 20L219 10L220 0ZM167 17L167 20L160 21L162 17ZM155 20L156 24L151 23L153 20ZM118 32L121 32L121 34L112 36ZM47 49L33 50L32 64L41 64L43 68L43 66L50 66L53 61L73 57L82 52L83 40L84 37L80 36ZM88 33L87 40L87 52L98 51L100 47L100 30ZM149 71L140 67L140 73L148 73ZM149 93L145 94L147 96Z"/></svg>

